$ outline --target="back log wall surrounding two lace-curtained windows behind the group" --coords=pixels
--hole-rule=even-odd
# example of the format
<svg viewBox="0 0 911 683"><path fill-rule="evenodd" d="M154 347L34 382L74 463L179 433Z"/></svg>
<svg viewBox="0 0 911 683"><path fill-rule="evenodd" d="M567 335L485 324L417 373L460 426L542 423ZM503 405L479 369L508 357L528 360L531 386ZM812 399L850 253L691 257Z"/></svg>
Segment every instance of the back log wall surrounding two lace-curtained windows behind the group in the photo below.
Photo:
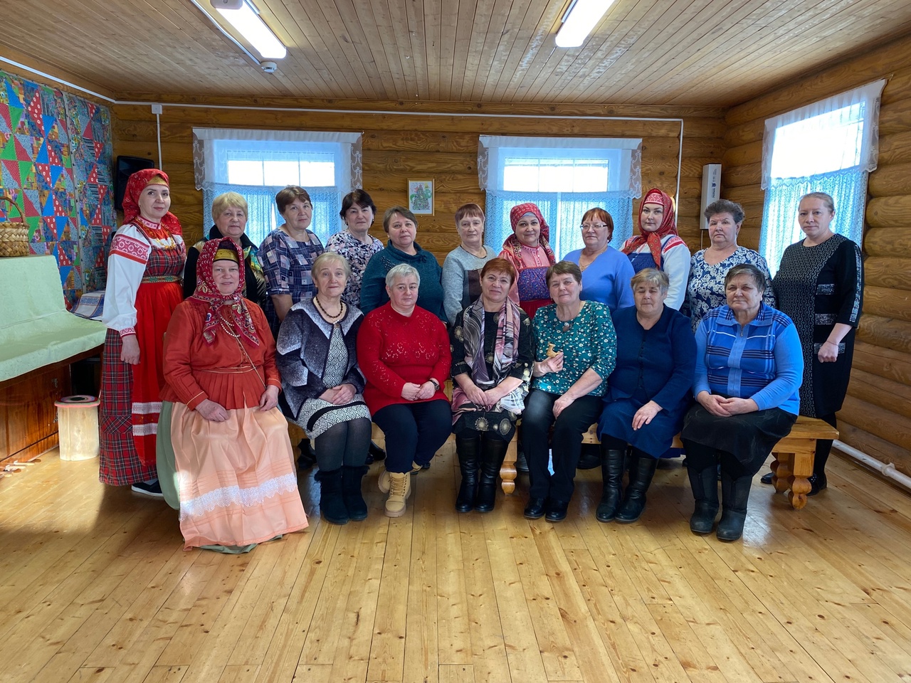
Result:
<svg viewBox="0 0 911 683"><path fill-rule="evenodd" d="M155 101L156 97L149 96L148 99ZM363 132L363 189L371 194L379 209L379 219L374 223L372 233L385 241L382 212L395 204L407 206L408 178L434 178L435 215L418 217L417 240L425 249L433 251L441 262L446 253L459 243L453 222L455 209L468 201L477 202L482 207L485 205L484 191L478 188L477 181L477 137L480 134L642 138L643 190L659 187L672 195L677 181L680 123L580 117L683 118L678 225L681 236L693 250L699 248L701 240L702 166L719 163L724 151L724 110L719 107L491 105L228 97L207 102L190 98L164 101L195 105L180 107L165 104L160 117L163 170L171 178L171 209L183 223L185 237L190 243L202 235L202 193L195 189L193 182L191 142L194 126ZM200 107L200 104L203 106ZM343 114L254 111L218 106L346 111ZM430 112L447 116L435 116ZM118 105L113 107L113 113L115 154L157 158L155 116L151 114L150 107ZM464 114L474 116L460 116ZM492 116L476 116L478 114ZM536 116L559 118L533 118ZM638 210L638 202L636 206ZM255 220L255 217L252 219ZM339 226L340 229L343 227L341 222Z"/></svg>

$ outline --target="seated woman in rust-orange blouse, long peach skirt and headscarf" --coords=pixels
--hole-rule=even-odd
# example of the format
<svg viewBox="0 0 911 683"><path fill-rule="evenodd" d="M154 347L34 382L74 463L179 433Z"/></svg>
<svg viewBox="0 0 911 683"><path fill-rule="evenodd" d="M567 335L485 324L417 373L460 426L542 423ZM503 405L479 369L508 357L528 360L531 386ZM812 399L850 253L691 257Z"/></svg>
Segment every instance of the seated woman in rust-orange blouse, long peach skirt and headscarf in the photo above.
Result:
<svg viewBox="0 0 911 683"><path fill-rule="evenodd" d="M196 291L171 318L158 442L165 500L185 547L244 553L307 525L281 378L261 308L241 295L243 250L209 240Z"/></svg>

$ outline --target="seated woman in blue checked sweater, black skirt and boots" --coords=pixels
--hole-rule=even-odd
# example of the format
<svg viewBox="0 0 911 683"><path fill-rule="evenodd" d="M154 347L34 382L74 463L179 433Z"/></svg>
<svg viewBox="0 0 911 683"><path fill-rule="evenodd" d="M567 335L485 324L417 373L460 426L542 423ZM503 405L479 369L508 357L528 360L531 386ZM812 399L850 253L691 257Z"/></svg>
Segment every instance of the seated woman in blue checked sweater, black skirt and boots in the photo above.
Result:
<svg viewBox="0 0 911 683"><path fill-rule="evenodd" d="M681 433L696 501L690 528L711 533L721 461L721 541L741 537L752 476L790 433L800 407L800 340L791 319L763 303L765 286L762 270L734 266L724 278L727 304L706 313L696 331L697 404Z"/></svg>

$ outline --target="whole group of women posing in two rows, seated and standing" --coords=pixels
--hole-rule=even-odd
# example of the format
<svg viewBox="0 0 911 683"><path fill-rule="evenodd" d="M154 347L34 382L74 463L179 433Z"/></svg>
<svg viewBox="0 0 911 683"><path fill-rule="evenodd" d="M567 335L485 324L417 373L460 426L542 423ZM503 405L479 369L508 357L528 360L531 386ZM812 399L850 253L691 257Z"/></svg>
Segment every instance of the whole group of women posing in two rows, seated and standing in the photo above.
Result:
<svg viewBox="0 0 911 683"><path fill-rule="evenodd" d="M742 209L723 200L706 211L711 247L691 260L658 189L622 253L609 246L609 213L591 209L584 248L562 261L534 204L510 211L498 255L484 244L483 210L466 204L455 214L461 244L442 269L415 241L408 209L385 212L385 247L371 237L376 207L363 190L344 198L346 229L329 250L299 187L276 196L284 223L259 249L240 195L215 199L208 240L189 253L169 203L160 170L129 179L108 263L101 480L163 496L187 547L245 552L307 525L286 418L314 445L321 513L334 524L367 516L372 421L389 451L378 480L385 514L399 516L411 475L449 433L462 474L456 510L492 510L523 416L525 515L553 522L567 515L590 424L604 477L597 516L631 522L682 423L691 528L713 528L720 462L718 536L731 540L752 475L798 409L834 423L844 396L862 274L856 245L829 229L827 195L802 200L807 237L774 282L796 326L773 309L762 258L736 244ZM684 300L689 319L677 311ZM824 488L826 454L812 493Z"/></svg>

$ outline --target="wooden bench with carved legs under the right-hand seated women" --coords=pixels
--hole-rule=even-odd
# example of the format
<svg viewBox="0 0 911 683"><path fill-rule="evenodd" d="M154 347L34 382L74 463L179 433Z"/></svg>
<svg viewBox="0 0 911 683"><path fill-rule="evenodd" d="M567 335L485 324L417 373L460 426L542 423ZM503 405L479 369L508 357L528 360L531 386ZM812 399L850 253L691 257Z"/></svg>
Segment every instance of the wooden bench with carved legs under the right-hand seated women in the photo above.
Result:
<svg viewBox="0 0 911 683"><path fill-rule="evenodd" d="M838 430L831 424L815 417L800 415L791 428L791 433L775 444L772 450L772 482L777 492L788 492L788 500L795 510L806 505L806 494L810 493L809 476L813 474L816 454L816 439L837 439ZM592 424L582 435L582 443L600 443L598 425ZM674 437L674 448L682 448L680 434ZM507 456L500 468L503 492L511 494L516 490L517 436L507 448Z"/></svg>

